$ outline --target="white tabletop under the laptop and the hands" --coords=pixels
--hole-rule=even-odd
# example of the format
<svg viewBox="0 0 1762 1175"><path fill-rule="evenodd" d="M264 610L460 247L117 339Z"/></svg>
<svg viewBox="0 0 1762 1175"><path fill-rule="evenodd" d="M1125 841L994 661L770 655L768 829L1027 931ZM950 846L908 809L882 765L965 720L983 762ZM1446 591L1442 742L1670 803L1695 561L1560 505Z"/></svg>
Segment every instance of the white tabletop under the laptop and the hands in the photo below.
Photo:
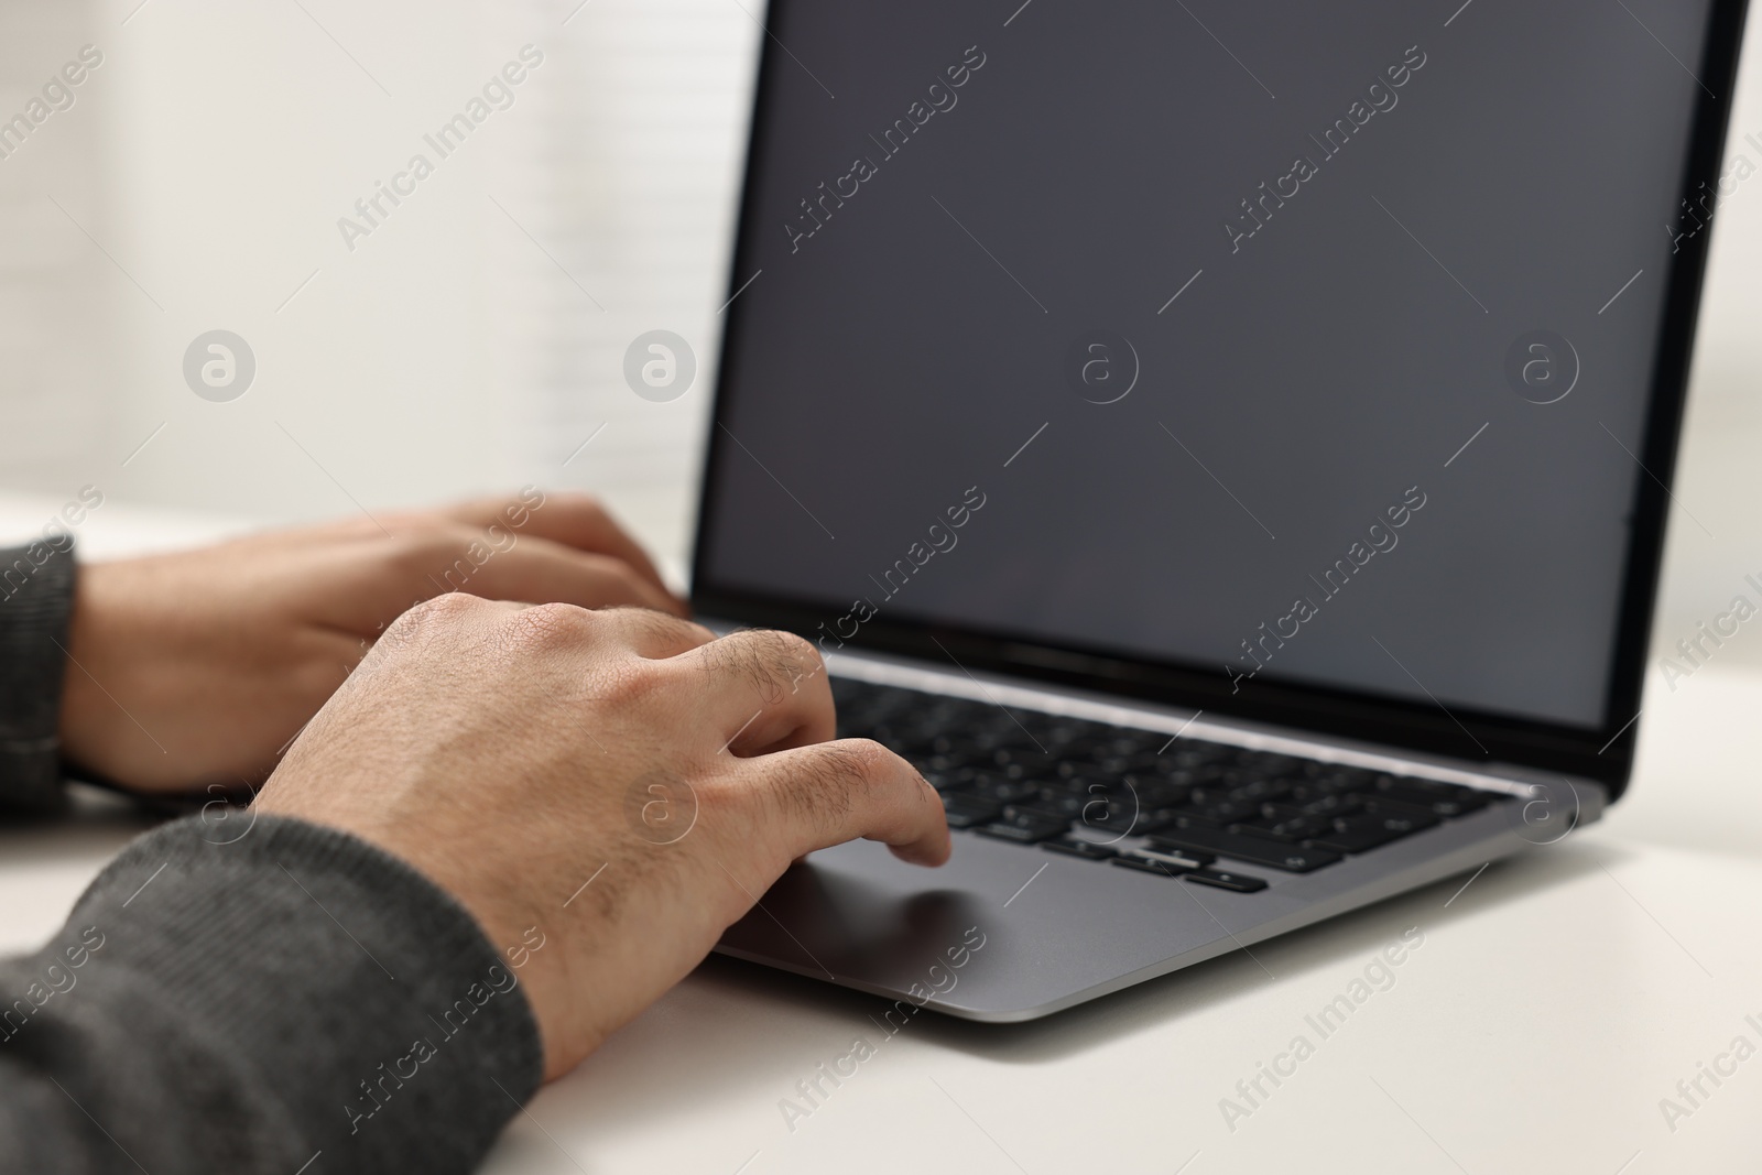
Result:
<svg viewBox="0 0 1762 1175"><path fill-rule="evenodd" d="M107 518L115 534L88 550L199 528ZM1762 1048L1762 673L1653 682L1630 798L1466 890L1443 883L1040 1024L920 1015L885 1043L869 1018L881 1001L710 960L543 1090L485 1170L1753 1171L1762 1053L1718 1087L1702 1078L1699 1106L1676 1085L1736 1036ZM93 805L0 830L0 951L39 944L139 828ZM1306 1016L1410 927L1425 941L1394 987L1323 1039ZM1299 1034L1313 1055L1276 1089L1262 1078L1269 1096L1232 1131L1219 1101L1246 1108L1237 1082ZM877 1055L791 1131L781 1099L858 1036ZM1674 1131L1663 1097L1692 1110Z"/></svg>

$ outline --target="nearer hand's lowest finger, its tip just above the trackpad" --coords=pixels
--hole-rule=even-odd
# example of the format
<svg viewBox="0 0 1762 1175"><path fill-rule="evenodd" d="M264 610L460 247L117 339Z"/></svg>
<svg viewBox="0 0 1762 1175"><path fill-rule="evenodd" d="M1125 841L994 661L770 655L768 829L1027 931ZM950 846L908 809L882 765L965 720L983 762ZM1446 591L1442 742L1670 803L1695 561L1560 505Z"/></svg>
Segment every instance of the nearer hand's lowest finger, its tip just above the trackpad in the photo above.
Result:
<svg viewBox="0 0 1762 1175"><path fill-rule="evenodd" d="M867 738L745 759L765 817L798 858L846 840L881 840L913 865L948 860L948 819L936 789L902 757Z"/></svg>

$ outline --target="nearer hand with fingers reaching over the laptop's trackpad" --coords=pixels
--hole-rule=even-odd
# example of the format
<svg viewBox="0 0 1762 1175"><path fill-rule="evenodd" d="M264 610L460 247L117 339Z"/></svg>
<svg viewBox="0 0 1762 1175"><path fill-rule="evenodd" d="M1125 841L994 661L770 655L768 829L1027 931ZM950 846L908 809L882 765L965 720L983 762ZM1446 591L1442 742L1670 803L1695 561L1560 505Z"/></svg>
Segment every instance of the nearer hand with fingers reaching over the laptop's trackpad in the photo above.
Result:
<svg viewBox="0 0 1762 1175"><path fill-rule="evenodd" d="M643 610L442 595L319 712L257 809L329 824L451 891L520 971L544 1075L682 979L812 849L948 858L936 791L833 735L814 647Z"/></svg>

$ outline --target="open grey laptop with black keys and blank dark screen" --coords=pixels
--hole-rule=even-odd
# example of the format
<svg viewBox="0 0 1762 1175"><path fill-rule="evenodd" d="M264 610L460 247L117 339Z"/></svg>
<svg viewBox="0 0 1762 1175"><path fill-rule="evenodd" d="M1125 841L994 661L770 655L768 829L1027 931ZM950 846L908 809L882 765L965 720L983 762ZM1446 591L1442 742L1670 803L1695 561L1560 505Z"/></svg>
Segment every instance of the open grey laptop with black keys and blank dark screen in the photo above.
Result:
<svg viewBox="0 0 1762 1175"><path fill-rule="evenodd" d="M719 951L1027 1020L1619 800L1743 7L774 0L692 604L955 851Z"/></svg>

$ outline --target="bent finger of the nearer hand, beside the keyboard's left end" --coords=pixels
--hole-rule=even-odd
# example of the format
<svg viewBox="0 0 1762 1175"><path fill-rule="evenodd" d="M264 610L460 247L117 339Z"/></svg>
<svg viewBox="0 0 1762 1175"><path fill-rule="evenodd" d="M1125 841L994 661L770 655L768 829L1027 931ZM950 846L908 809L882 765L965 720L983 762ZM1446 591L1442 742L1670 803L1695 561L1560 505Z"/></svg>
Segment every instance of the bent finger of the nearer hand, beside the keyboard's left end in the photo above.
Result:
<svg viewBox="0 0 1762 1175"><path fill-rule="evenodd" d="M826 666L800 636L744 629L666 664L687 678L701 724L737 756L802 747L837 733Z"/></svg>

